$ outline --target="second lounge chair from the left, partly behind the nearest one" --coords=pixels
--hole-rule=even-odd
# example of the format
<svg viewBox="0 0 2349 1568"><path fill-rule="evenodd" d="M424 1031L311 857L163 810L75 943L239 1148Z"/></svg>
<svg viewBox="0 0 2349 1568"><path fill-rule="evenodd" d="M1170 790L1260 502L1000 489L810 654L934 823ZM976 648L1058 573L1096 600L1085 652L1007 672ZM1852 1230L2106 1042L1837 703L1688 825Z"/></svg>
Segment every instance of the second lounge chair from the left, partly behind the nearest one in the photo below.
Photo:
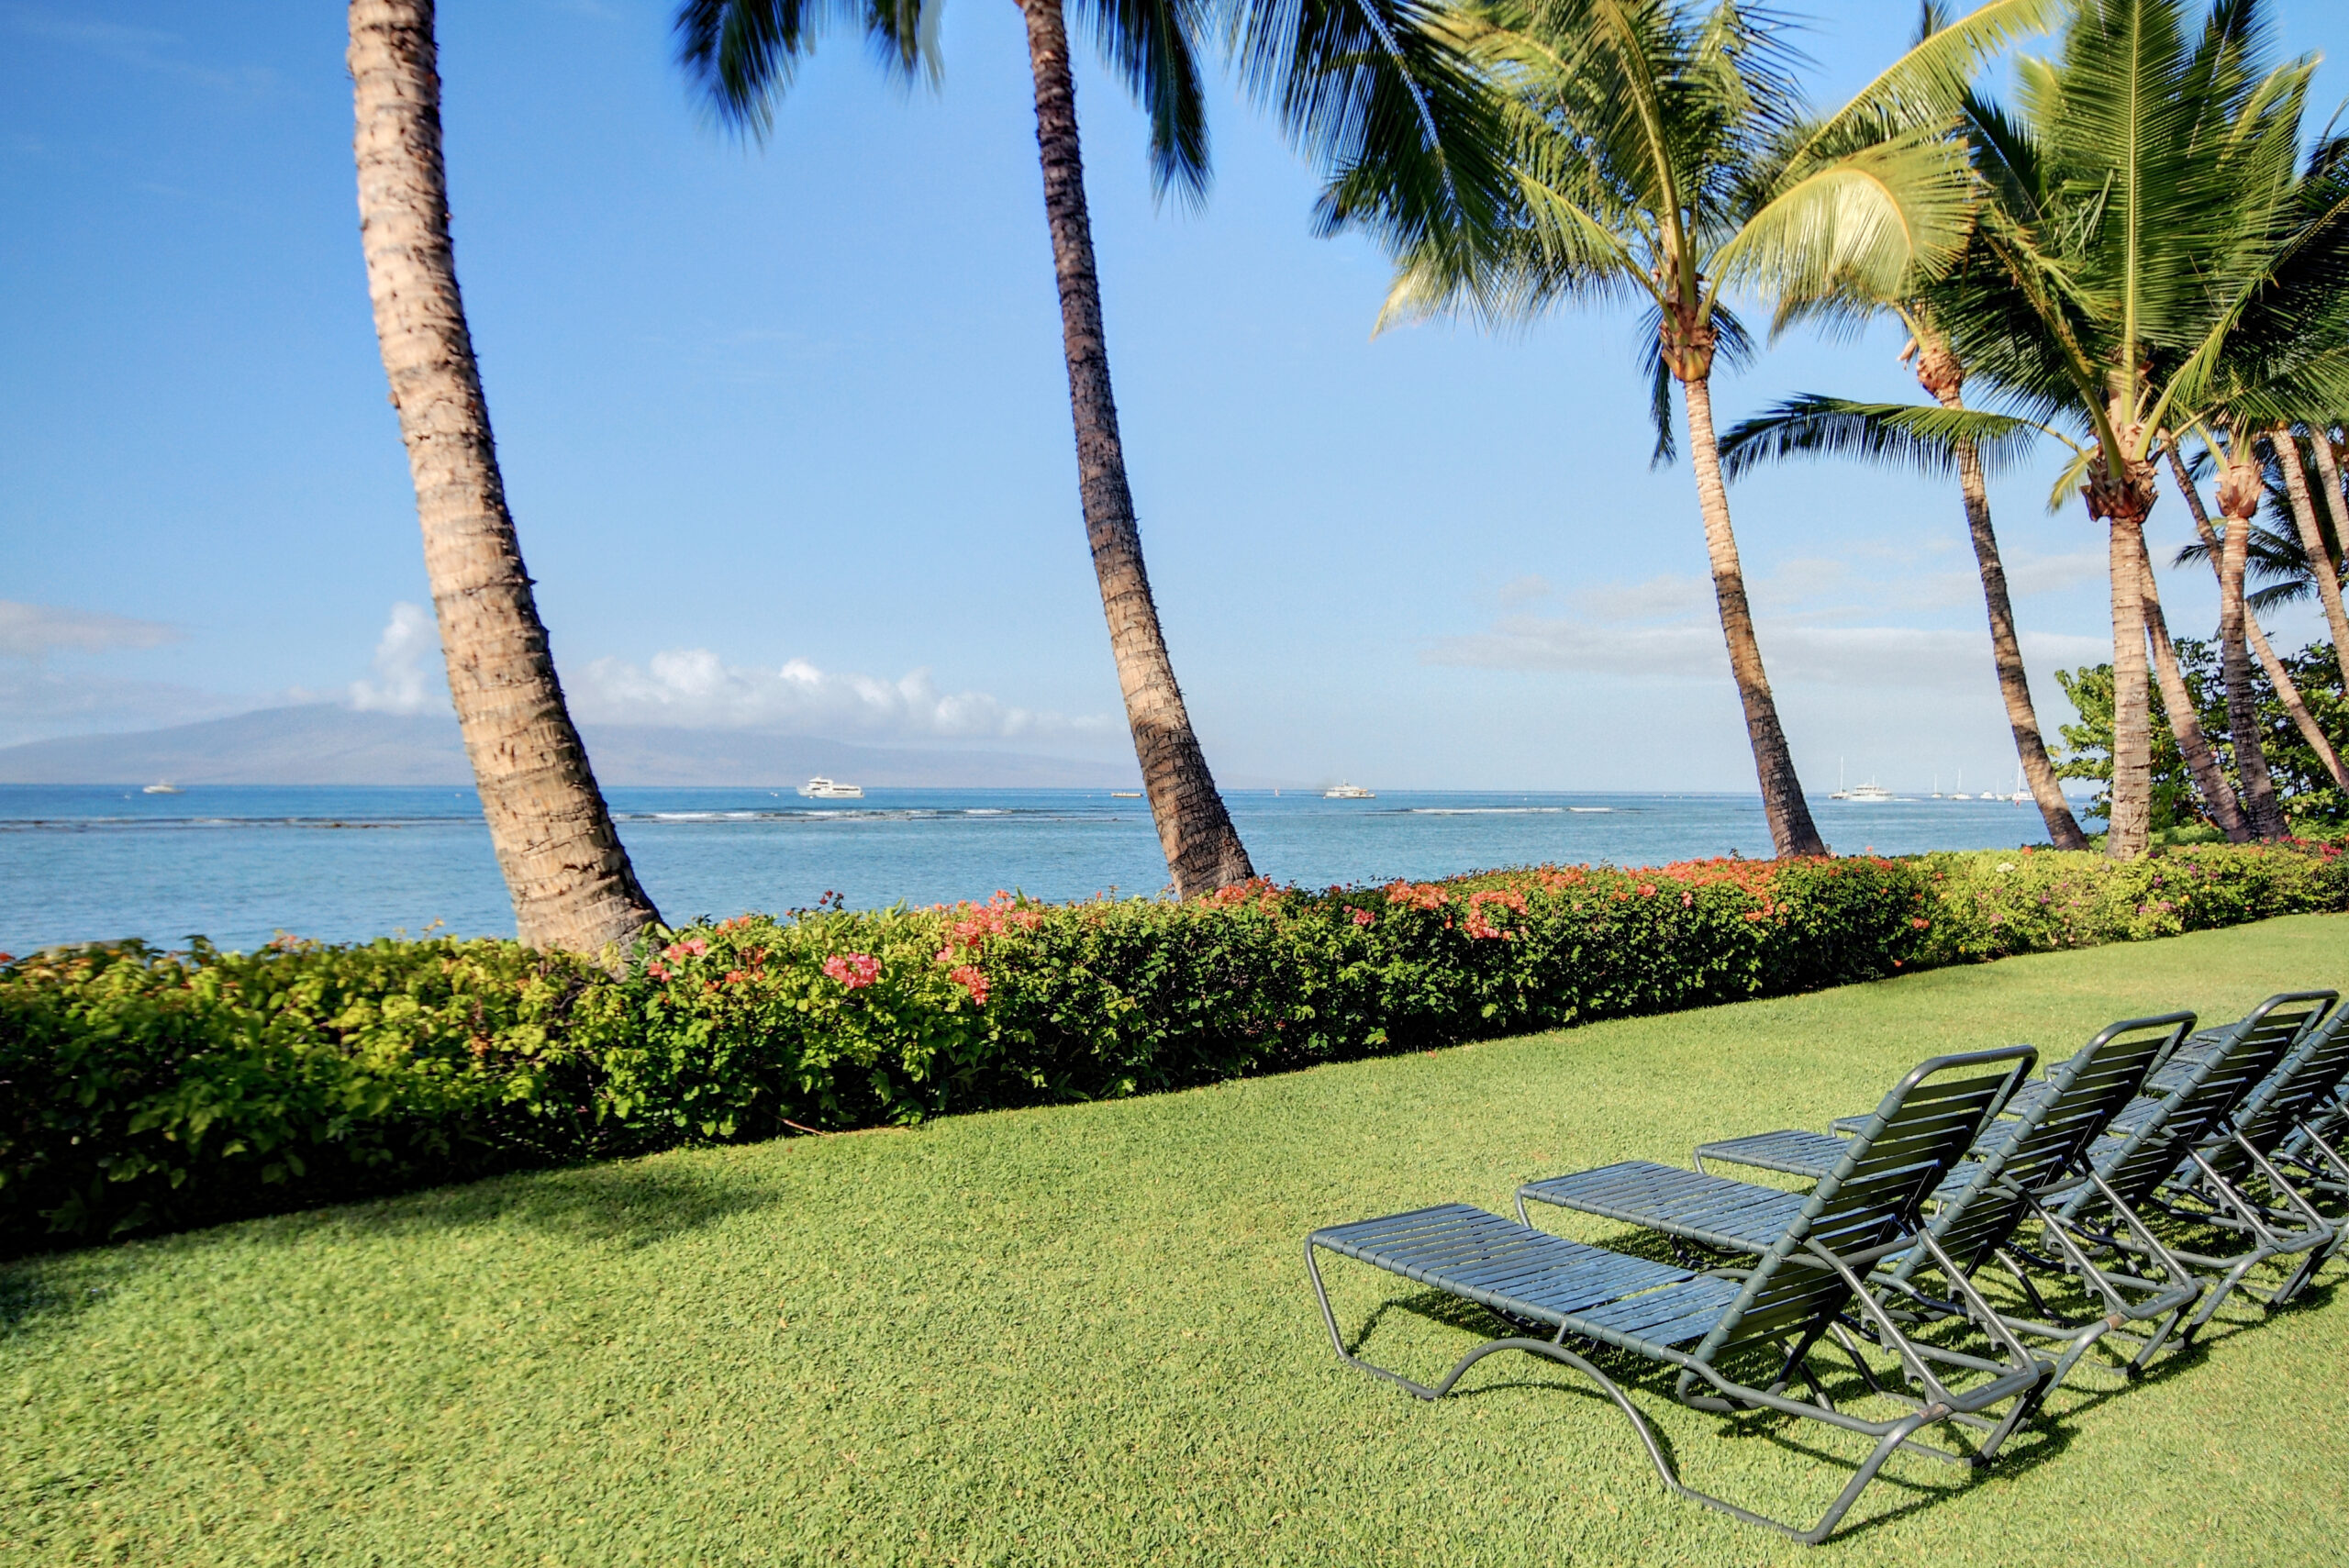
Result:
<svg viewBox="0 0 2349 1568"><path fill-rule="evenodd" d="M2154 1063L2192 1028L2189 1012L2123 1019L2069 1061L2051 1066L2046 1080L2020 1087L2008 1108L2020 1103L2022 1110L1985 1124L1968 1150L1971 1157L1936 1188L1926 1235L1940 1242L1966 1277L1992 1258L2004 1261L2015 1230L2037 1216L2039 1204L2060 1202L2072 1185L2086 1181L2088 1148L2133 1101ZM1846 1138L1795 1129L1703 1143L1696 1148L1694 1171L1635 1162L1529 1181L1517 1188L1517 1216L1525 1218L1527 1202L1557 1204L1658 1230L1675 1244L1694 1242L1715 1251L1752 1253L1769 1244L1783 1216L1802 1207L1804 1195L1729 1181L1705 1171L1705 1160L1816 1181L1846 1148ZM1971 1317L1971 1303L1919 1289L1917 1275L1933 1268L1938 1268L1936 1256L1912 1246L1886 1258L1872 1284L1889 1298L1898 1296L1905 1314ZM2065 1345L2044 1390L2053 1392L2088 1347L2121 1322L2175 1317L2194 1305L2199 1291L2201 1282L2192 1272L2166 1279L2123 1277L2105 1286L2107 1310L2100 1317L2062 1326L2008 1317L2006 1326Z"/></svg>

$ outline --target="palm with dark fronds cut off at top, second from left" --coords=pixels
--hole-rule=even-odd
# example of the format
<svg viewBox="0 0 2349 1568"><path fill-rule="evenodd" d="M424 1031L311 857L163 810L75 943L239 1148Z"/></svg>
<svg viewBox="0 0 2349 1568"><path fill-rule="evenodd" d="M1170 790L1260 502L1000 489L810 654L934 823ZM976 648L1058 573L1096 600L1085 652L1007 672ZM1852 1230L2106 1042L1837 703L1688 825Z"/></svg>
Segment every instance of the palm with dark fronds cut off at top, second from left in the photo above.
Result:
<svg viewBox="0 0 2349 1568"><path fill-rule="evenodd" d="M1085 538L1158 843L1177 897L1191 897L1245 880L1254 869L1191 730L1142 566L1142 533L1109 387L1062 0L1017 2L1036 82L1036 150L1059 279ZM937 77L935 0L864 0L848 9L897 73L928 66ZM1435 202L1466 202L1470 209L1489 202L1485 190L1496 183L1496 171L1480 153L1489 143L1480 120L1482 94L1442 38L1440 16L1419 0L1245 0L1226 9L1245 80L1276 101L1318 157L1339 174L1365 160L1409 171L1393 192L1400 223L1419 223L1416 214ZM728 124L763 136L775 99L789 87L799 59L813 52L829 14L810 0L684 0L677 12L679 59ZM1109 66L1151 117L1151 176L1160 195L1174 190L1198 200L1207 185L1198 45L1210 14L1207 0L1097 0L1081 7Z"/></svg>

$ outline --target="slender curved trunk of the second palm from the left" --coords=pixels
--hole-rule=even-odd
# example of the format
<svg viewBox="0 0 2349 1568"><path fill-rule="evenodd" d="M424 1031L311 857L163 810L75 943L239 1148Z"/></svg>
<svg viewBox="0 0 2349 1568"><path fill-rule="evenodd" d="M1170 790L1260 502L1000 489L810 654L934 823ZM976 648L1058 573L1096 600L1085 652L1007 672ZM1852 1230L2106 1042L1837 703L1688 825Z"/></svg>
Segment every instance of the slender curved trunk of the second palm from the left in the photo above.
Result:
<svg viewBox="0 0 2349 1568"><path fill-rule="evenodd" d="M1142 533L1125 484L1118 406L1109 394L1109 345L1102 336L1102 284L1092 270L1092 218L1085 214L1085 164L1076 141L1076 80L1069 75L1069 31L1059 0L1019 0L1036 73L1036 150L1043 157L1043 209L1052 225L1052 270L1059 275L1059 333L1069 359L1069 408L1076 415L1076 481L1085 507L1092 570L1102 582L1109 648L1118 660L1125 723L1142 761L1158 847L1174 878L1174 897L1212 892L1254 876L1207 758L1191 732L1191 716L1174 685L1158 603L1142 570Z"/></svg>

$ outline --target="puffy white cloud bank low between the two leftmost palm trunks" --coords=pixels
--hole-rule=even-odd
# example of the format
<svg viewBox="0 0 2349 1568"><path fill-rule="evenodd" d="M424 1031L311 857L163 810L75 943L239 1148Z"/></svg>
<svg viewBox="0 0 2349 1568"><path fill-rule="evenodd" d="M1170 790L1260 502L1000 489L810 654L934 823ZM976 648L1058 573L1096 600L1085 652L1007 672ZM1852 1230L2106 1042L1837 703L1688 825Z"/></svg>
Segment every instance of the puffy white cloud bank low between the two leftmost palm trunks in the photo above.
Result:
<svg viewBox="0 0 2349 1568"><path fill-rule="evenodd" d="M707 648L672 648L639 667L597 660L564 681L587 721L681 730L789 730L855 739L1104 739L1113 718L1038 714L987 692L942 692L928 669L900 681L817 669L726 664Z"/></svg>

